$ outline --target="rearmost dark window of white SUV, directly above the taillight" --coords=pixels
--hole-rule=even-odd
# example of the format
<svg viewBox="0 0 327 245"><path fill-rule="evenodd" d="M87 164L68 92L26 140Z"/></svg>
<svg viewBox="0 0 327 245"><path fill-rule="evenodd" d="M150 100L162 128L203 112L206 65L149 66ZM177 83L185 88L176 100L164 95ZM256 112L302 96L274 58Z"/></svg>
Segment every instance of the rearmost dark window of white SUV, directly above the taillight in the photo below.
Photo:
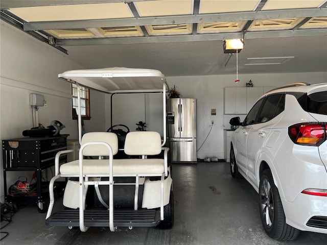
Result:
<svg viewBox="0 0 327 245"><path fill-rule="evenodd" d="M296 96L303 110L321 115L327 115L327 91Z"/></svg>

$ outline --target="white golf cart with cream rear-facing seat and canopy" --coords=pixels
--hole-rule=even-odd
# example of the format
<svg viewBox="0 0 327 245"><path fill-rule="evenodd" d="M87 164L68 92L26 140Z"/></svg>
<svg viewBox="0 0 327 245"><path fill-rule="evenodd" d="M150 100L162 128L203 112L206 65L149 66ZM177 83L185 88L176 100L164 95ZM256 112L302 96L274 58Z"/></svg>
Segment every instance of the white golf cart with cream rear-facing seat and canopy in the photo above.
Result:
<svg viewBox="0 0 327 245"><path fill-rule="evenodd" d="M171 164L166 145L165 76L158 70L105 68L70 70L59 78L75 83L78 91L79 160L59 165L50 181L50 205L46 224L50 226L152 227L169 229L174 221ZM128 132L124 148L114 132L91 132L82 136L80 86L114 93L162 93L164 135L158 132ZM116 157L123 151L125 157ZM117 155L116 155L117 154ZM54 212L54 182L67 178L63 210Z"/></svg>

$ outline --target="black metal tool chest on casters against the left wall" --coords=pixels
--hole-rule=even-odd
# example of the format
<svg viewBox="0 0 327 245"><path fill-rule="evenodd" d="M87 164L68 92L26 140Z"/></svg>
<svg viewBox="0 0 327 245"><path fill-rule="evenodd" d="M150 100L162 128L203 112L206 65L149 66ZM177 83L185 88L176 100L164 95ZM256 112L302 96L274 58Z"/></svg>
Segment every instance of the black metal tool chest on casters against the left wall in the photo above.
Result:
<svg viewBox="0 0 327 245"><path fill-rule="evenodd" d="M39 212L45 212L42 191L43 169L55 165L57 152L67 150L67 136L58 137L24 137L2 140L3 164L4 164L4 189L5 201L15 203L36 202ZM59 162L66 162L67 155L61 155ZM28 196L8 195L7 172L8 171L35 171L36 172L36 193ZM10 183L10 185L13 183ZM43 183L44 184L44 183ZM45 182L48 184L48 182ZM47 191L48 192L48 191Z"/></svg>

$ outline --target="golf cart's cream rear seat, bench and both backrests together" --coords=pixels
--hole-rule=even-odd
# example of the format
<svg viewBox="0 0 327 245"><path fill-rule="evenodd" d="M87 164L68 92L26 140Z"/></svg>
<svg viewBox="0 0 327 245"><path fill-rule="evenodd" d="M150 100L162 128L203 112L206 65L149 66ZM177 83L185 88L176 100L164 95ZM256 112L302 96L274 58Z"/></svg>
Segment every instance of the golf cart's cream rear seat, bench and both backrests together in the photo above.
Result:
<svg viewBox="0 0 327 245"><path fill-rule="evenodd" d="M84 134L82 145L92 141L107 142L113 154L118 152L118 138L110 132L91 132ZM100 147L101 146L101 147ZM130 132L125 140L125 153L128 155L158 155L161 153L161 136L157 132ZM108 156L109 151L103 145L87 145L83 156ZM64 163L60 166L62 175L79 175L79 160ZM108 159L83 159L84 175L108 175ZM165 173L164 159L113 159L113 175L160 175Z"/></svg>

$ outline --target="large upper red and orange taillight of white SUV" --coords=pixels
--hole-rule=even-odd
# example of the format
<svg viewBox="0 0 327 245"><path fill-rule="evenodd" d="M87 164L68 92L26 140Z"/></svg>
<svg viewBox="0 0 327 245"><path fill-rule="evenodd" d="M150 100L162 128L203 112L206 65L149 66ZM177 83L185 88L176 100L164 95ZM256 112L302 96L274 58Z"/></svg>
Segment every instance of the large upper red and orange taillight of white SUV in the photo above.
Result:
<svg viewBox="0 0 327 245"><path fill-rule="evenodd" d="M288 128L288 135L296 144L318 146L326 140L325 122L306 122Z"/></svg>

